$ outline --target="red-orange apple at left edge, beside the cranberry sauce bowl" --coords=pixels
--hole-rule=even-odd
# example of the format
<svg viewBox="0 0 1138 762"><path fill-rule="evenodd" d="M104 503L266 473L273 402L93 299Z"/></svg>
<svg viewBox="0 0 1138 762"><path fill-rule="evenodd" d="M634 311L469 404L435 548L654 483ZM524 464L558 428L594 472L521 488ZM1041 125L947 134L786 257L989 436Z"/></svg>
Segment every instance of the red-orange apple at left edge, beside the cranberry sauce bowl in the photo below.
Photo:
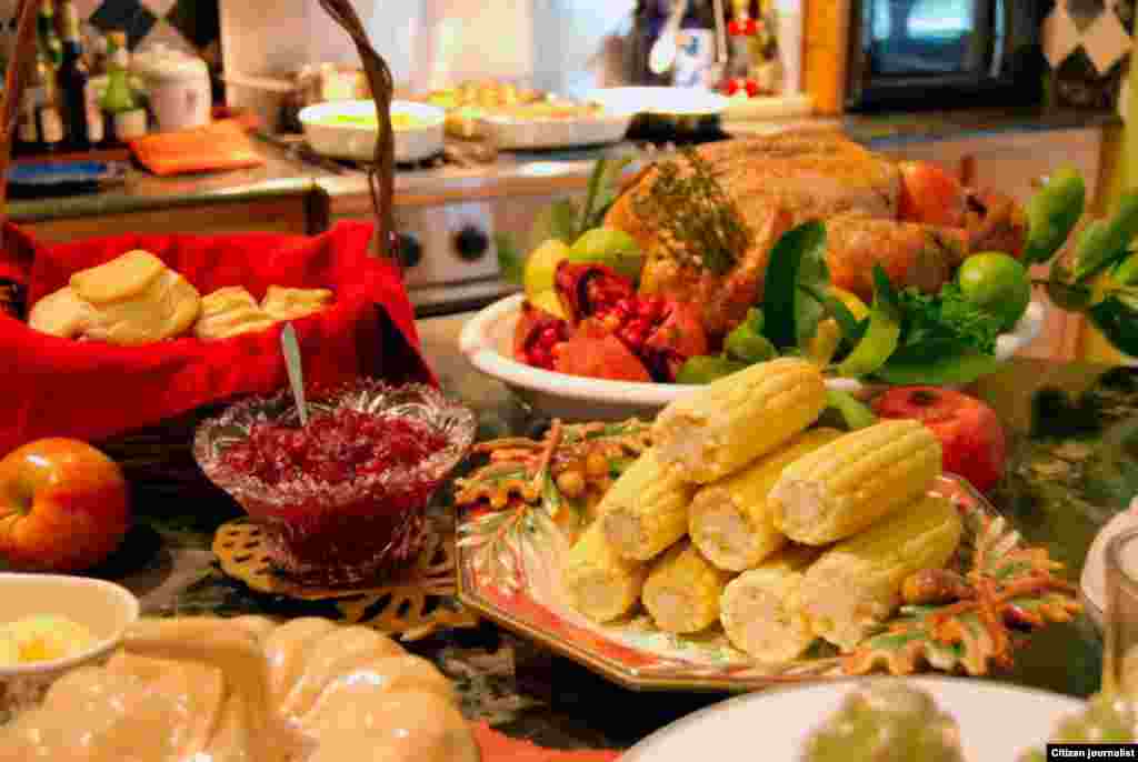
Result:
<svg viewBox="0 0 1138 762"><path fill-rule="evenodd" d="M85 442L40 439L0 461L0 557L15 569L90 569L130 523L122 470Z"/></svg>

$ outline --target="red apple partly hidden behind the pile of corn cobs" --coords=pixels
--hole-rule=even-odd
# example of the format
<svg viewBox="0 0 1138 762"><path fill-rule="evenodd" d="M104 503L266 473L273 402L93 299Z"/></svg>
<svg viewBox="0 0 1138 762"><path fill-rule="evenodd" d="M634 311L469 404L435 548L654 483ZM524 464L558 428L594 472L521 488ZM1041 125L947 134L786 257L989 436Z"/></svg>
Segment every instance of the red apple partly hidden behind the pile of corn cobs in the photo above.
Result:
<svg viewBox="0 0 1138 762"><path fill-rule="evenodd" d="M945 471L987 492L1004 477L1007 442L996 411L975 397L938 387L898 387L874 400L883 419L916 419L945 453Z"/></svg>

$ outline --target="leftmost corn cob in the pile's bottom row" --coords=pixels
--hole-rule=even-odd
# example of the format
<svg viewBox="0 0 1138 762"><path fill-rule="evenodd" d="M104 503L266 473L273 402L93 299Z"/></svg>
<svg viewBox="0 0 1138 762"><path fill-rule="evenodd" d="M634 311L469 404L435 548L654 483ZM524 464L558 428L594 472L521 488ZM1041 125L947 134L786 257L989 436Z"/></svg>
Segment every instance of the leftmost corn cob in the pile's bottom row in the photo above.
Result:
<svg viewBox="0 0 1138 762"><path fill-rule="evenodd" d="M574 608L609 622L640 602L648 564L622 558L604 537L601 522L594 521L569 550L562 574Z"/></svg>

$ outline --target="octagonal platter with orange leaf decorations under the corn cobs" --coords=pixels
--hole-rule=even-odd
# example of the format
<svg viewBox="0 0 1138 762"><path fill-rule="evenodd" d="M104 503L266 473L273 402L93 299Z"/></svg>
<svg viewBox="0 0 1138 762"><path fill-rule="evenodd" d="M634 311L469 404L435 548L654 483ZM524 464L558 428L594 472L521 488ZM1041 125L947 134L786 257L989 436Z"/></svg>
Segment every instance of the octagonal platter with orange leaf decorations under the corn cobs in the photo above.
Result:
<svg viewBox="0 0 1138 762"><path fill-rule="evenodd" d="M594 436L609 436L617 449L634 454L645 444L643 432L621 425L628 422ZM572 436L580 437L576 430ZM964 596L904 606L853 653L819 643L802 659L764 665L735 649L718 628L676 636L658 630L642 611L599 624L574 610L561 585L562 562L588 508L558 495L550 453L528 441L510 440L503 457L459 483L459 596L506 629L628 688L739 691L869 672L987 674L1007 666L1028 631L1079 611L1074 588L1056 573L1061 565L1047 550L1025 547L983 496L946 474L932 491L949 498L965 519L964 539L949 564L964 582Z"/></svg>

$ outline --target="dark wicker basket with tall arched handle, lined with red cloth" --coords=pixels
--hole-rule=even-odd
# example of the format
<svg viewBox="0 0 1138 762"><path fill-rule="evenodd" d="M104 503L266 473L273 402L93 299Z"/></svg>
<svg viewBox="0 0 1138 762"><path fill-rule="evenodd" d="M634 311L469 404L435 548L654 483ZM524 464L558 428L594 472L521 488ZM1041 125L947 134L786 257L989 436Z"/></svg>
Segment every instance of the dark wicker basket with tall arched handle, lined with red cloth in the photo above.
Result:
<svg viewBox="0 0 1138 762"><path fill-rule="evenodd" d="M393 168L394 141L390 123L391 74L382 57L376 52L368 34L348 0L320 0L321 7L352 38L363 61L372 98L379 119L379 139L376 157L369 167L369 184L376 213L376 237L372 239L374 256L390 257L393 238ZM0 208L7 201L7 169L11 161L13 136L16 114L23 90L35 61L36 9L39 0L19 0L16 10L16 35L14 49L5 75L5 89L0 98ZM2 220L2 218L0 218ZM3 234L3 233L0 233ZM16 246L5 240L6 248ZM393 257L397 260L397 257ZM0 279L0 309L25 320L31 305L19 283ZM228 400L226 400L228 401ZM216 414L223 403L200 407L175 419L138 431L126 432L110 440L93 442L117 461L127 479L137 488L146 491L178 491L185 496L217 494L201 474L193 459L190 446L193 431L205 417ZM2 454L0 454L2 455Z"/></svg>

